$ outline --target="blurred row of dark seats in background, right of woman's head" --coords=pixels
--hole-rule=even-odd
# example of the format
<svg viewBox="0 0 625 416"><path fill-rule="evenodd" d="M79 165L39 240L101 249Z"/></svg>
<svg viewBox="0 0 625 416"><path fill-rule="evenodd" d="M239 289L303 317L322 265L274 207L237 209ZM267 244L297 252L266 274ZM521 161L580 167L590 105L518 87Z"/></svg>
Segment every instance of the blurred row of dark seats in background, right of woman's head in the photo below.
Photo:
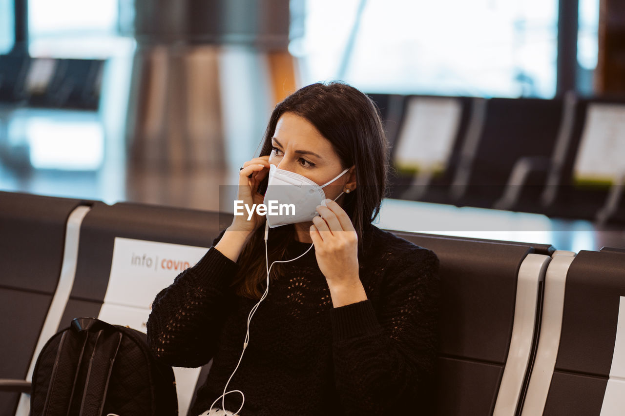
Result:
<svg viewBox="0 0 625 416"><path fill-rule="evenodd" d="M369 95L391 197L625 223L625 98Z"/></svg>

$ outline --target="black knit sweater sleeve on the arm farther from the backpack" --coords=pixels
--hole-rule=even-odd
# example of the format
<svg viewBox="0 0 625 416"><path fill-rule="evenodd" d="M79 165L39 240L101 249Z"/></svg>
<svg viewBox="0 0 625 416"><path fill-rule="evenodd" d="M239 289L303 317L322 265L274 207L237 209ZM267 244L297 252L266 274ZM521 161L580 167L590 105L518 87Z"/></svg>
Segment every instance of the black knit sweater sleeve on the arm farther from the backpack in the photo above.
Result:
<svg viewBox="0 0 625 416"><path fill-rule="evenodd" d="M332 310L334 381L346 415L429 414L438 348L439 260L418 247L389 265L381 302Z"/></svg>

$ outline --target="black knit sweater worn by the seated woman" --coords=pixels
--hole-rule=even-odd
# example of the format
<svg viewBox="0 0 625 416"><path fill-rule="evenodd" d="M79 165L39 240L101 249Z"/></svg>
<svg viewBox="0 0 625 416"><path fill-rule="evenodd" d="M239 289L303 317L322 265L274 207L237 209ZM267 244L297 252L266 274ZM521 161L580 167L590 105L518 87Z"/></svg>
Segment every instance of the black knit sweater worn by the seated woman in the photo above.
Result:
<svg viewBox="0 0 625 416"><path fill-rule="evenodd" d="M438 259L373 225L364 238L359 275L367 300L334 308L314 247L285 263L284 274L271 281L227 387L245 394L241 416L431 414ZM285 259L269 264L294 259L308 247L293 241ZM156 295L149 316L148 343L159 359L174 367L213 359L192 416L223 393L241 355L257 301L229 287L238 267L211 247ZM241 399L226 395L226 409L236 412Z"/></svg>

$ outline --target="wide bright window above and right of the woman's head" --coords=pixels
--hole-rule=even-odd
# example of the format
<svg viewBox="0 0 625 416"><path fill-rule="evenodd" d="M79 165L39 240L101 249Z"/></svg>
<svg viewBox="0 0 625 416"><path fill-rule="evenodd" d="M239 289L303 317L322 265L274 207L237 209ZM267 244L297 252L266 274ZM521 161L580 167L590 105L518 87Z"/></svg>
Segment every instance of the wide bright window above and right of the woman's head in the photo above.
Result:
<svg viewBox="0 0 625 416"><path fill-rule="evenodd" d="M367 92L552 97L557 0L308 0L304 83Z"/></svg>

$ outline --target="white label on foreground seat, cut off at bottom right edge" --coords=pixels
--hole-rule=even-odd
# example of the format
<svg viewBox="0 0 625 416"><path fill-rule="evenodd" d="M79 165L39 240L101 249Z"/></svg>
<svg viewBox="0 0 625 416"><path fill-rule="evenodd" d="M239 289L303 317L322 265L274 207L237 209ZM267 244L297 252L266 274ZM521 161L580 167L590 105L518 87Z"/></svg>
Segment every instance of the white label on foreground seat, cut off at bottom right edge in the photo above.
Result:
<svg viewBox="0 0 625 416"><path fill-rule="evenodd" d="M607 380L600 416L622 415L625 409L625 296L619 301L619 319L612 354L610 379Z"/></svg>

